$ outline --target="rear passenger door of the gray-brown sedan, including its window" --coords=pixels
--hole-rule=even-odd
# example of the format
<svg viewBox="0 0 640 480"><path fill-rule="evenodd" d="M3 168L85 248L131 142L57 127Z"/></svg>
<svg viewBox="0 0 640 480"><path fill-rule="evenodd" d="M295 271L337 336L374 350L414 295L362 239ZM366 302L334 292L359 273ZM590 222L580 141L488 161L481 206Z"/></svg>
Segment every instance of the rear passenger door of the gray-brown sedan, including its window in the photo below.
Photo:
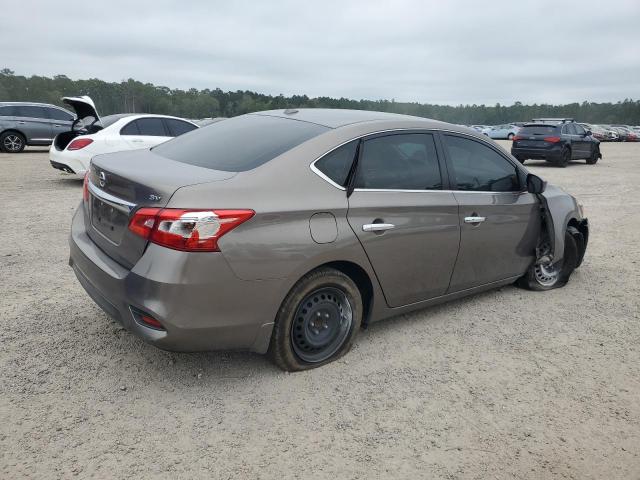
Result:
<svg viewBox="0 0 640 480"><path fill-rule="evenodd" d="M447 290L460 227L455 197L443 185L433 133L362 141L347 216L391 307Z"/></svg>

